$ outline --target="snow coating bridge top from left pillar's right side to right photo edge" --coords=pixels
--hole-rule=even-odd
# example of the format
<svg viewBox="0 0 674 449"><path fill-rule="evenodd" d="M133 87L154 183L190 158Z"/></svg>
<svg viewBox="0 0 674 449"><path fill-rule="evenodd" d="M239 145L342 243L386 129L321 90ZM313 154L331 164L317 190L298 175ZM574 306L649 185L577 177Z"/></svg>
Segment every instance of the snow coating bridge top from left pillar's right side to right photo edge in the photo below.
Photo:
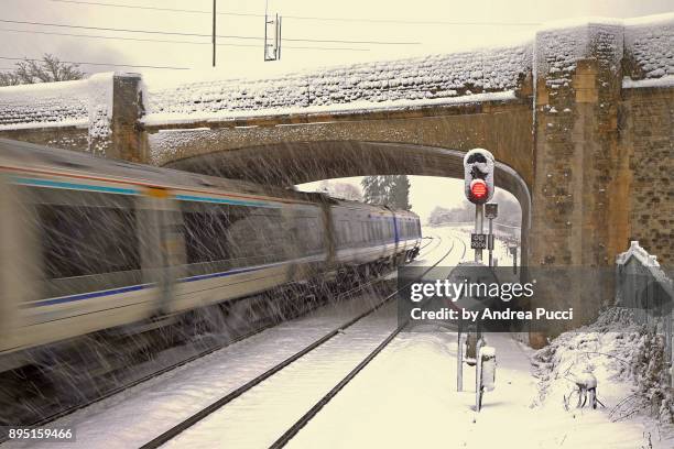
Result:
<svg viewBox="0 0 674 449"><path fill-rule="evenodd" d="M624 21L580 19L551 24L531 42L510 47L328 67L274 78L184 83L164 89L150 86L143 122L162 125L507 100L514 98L534 65L551 78L566 74L563 80L569 79L577 59L590 47L612 53L617 66L623 57L630 59L630 73L626 74L630 79L664 78L674 85L674 14ZM536 53L554 56L534 63Z"/></svg>

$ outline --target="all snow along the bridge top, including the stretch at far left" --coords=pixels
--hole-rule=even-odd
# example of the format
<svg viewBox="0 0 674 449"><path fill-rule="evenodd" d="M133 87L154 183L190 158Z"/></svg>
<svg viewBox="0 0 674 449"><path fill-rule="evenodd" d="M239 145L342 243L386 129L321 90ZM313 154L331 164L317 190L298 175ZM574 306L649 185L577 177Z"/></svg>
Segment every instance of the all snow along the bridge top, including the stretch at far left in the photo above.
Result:
<svg viewBox="0 0 674 449"><path fill-rule="evenodd" d="M591 30L588 32L588 30ZM268 78L199 80L195 70L171 87L144 86L149 127L289 113L339 113L455 102L508 100L535 72L570 79L588 47L623 61L624 88L674 85L674 14L581 19L539 30L504 48L328 67ZM547 55L536 59L537 54ZM552 55L552 56L551 56ZM181 74L185 79L185 74ZM118 75L119 76L119 75ZM217 76L217 75L215 75ZM209 75L214 78L214 74ZM644 81L642 81L644 80ZM109 132L112 76L0 88L0 131L81 127Z"/></svg>

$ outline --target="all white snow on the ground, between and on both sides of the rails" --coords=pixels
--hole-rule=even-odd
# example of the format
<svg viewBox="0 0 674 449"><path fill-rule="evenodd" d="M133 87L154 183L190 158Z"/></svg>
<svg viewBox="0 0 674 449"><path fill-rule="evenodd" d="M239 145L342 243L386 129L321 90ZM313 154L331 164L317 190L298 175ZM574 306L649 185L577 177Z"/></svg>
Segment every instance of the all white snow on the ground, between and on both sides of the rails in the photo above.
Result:
<svg viewBox="0 0 674 449"><path fill-rule="evenodd" d="M455 265L472 259L469 229L424 229L434 239L415 264ZM466 249L466 251L464 251ZM497 245L500 265L510 256ZM54 423L75 427L76 447L138 447L365 308L362 297L343 309L317 310L269 329L121 395ZM371 298L374 299L374 298ZM167 447L269 447L396 325L394 307L346 329L324 347L292 363L222 409L198 423ZM593 330L564 335L547 352L535 352L513 336L489 333L497 351L497 386L475 405L475 370L464 369L464 392L456 392L456 335L442 329L402 332L330 401L289 443L292 448L672 448L671 428L639 415L613 421L613 407L632 393L629 376L616 375L620 338ZM591 333L591 335L590 335ZM591 338L590 338L591 337ZM589 344L589 346L588 346ZM606 352L593 359L598 397L606 408L564 406L573 384L564 379L577 350ZM629 344L628 344L629 346ZM615 355L615 357L611 357ZM588 359L589 360L589 359ZM584 361L587 361L584 359ZM535 374L535 375L534 375ZM564 374L564 375L562 375ZM568 409L567 409L568 408ZM613 412L613 414L611 413ZM8 447L26 447L6 445Z"/></svg>

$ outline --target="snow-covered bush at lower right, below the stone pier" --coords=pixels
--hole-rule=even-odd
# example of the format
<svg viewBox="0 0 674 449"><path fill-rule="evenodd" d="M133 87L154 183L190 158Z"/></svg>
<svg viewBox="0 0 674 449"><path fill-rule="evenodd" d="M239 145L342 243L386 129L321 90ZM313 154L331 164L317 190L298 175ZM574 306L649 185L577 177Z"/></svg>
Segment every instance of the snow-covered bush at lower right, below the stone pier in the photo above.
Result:
<svg viewBox="0 0 674 449"><path fill-rule="evenodd" d="M539 379L534 406L572 407L575 382L591 372L597 397L611 419L649 413L674 423L674 395L667 382L664 339L639 325L632 311L612 307L591 325L562 333L533 358Z"/></svg>

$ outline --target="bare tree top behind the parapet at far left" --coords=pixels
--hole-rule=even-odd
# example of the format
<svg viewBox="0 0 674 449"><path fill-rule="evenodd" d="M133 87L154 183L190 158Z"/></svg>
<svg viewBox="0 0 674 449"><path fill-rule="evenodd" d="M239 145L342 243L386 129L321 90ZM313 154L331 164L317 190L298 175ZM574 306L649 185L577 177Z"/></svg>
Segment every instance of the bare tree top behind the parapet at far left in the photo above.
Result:
<svg viewBox="0 0 674 449"><path fill-rule="evenodd" d="M0 86L68 81L84 77L77 64L64 63L48 53L41 61L24 59L15 65L17 68L11 72L0 73Z"/></svg>

